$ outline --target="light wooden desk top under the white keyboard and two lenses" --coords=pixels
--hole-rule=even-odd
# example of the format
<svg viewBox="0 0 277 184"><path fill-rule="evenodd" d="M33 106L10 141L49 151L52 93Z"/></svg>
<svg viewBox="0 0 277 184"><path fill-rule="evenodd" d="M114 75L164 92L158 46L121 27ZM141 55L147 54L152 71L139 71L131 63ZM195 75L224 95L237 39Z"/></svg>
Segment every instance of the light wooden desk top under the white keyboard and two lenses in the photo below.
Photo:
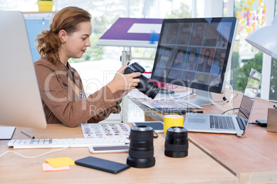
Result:
<svg viewBox="0 0 277 184"><path fill-rule="evenodd" d="M62 124L48 124L44 130L17 128L13 139L30 139L21 130L34 135L36 139L80 138L81 127L68 128ZM189 143L189 155L175 159L164 155L165 137L160 134L154 139L154 157L156 165L152 168L130 168L119 174L110 174L99 170L70 166L69 171L43 172L45 159L70 157L74 161L94 156L120 163L126 163L127 153L91 154L88 148L67 148L35 159L24 159L9 152L0 157L0 183L237 183L236 176L219 163ZM43 154L49 149L12 149L6 146L8 141L0 141L0 154L6 150L15 150L25 156Z"/></svg>

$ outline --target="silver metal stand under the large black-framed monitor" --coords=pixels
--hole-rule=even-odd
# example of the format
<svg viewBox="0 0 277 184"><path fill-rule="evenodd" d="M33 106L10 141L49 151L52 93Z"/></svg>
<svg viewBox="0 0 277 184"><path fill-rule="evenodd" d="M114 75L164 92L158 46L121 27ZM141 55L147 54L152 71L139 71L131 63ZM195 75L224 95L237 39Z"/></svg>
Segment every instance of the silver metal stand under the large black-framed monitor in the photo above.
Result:
<svg viewBox="0 0 277 184"><path fill-rule="evenodd" d="M194 99L192 100L188 100L189 102L192 102L193 104L196 104L198 106L207 106L212 104L213 97L211 92L202 91L199 89L193 89L193 90L196 97L194 97Z"/></svg>

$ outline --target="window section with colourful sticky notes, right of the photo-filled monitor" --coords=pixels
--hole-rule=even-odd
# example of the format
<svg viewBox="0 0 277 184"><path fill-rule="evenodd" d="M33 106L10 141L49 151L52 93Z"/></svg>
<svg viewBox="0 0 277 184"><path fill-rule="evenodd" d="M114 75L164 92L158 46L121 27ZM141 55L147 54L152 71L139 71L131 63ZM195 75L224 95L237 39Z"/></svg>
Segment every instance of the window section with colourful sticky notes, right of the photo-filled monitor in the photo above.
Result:
<svg viewBox="0 0 277 184"><path fill-rule="evenodd" d="M234 89L242 91L250 69L262 71L263 53L245 41L247 35L265 24L264 3L235 1L234 14L239 19L236 43L232 56L232 81Z"/></svg>

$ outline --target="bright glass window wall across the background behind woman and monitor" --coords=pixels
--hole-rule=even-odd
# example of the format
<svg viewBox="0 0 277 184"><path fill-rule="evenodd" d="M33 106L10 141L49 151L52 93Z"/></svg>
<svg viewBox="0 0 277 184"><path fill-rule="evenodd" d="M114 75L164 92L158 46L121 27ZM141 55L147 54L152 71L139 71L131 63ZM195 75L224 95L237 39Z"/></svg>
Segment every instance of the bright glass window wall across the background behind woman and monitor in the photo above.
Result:
<svg viewBox="0 0 277 184"><path fill-rule="evenodd" d="M277 0L276 0L277 1ZM216 6L211 4L216 2ZM230 83L236 90L243 90L245 78L250 67L256 70L262 70L263 53L245 42L245 37L252 30L265 25L267 17L265 16L265 0L103 0L103 1L82 1L82 0L55 0L54 10L61 10L69 5L76 5L88 10L92 14L93 34L91 36L92 47L86 51L83 58L72 59L70 62L83 62L92 60L117 60L121 56L122 47L96 47L100 36L103 35L116 19L119 17L131 18L189 18L218 16L238 16L240 24L236 43L232 56L232 76ZM219 6L223 4L222 10ZM272 3L272 2L270 2ZM219 4L219 5L218 5ZM276 5L269 5L267 10L274 9ZM234 14L228 12L228 5L234 6ZM19 0L5 1L0 0L0 10L19 10L23 12L38 11L37 0ZM222 11L219 12L218 11ZM258 17L258 18L257 18ZM152 58L150 60L134 60L141 62L147 69L151 68L154 62L156 49L134 48L132 55L137 58ZM133 62L133 61L132 61ZM271 60L271 78L269 98L277 100L277 61Z"/></svg>

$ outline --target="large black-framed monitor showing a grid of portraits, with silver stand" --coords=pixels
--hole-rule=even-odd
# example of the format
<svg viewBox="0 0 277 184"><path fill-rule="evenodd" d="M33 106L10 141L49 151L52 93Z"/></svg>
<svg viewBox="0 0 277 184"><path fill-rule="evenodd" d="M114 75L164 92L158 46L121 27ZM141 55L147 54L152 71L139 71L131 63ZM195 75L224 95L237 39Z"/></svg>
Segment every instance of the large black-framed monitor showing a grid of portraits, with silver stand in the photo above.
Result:
<svg viewBox="0 0 277 184"><path fill-rule="evenodd" d="M237 27L236 17L164 19L151 79L196 89L191 102L211 104L211 92L225 90Z"/></svg>

